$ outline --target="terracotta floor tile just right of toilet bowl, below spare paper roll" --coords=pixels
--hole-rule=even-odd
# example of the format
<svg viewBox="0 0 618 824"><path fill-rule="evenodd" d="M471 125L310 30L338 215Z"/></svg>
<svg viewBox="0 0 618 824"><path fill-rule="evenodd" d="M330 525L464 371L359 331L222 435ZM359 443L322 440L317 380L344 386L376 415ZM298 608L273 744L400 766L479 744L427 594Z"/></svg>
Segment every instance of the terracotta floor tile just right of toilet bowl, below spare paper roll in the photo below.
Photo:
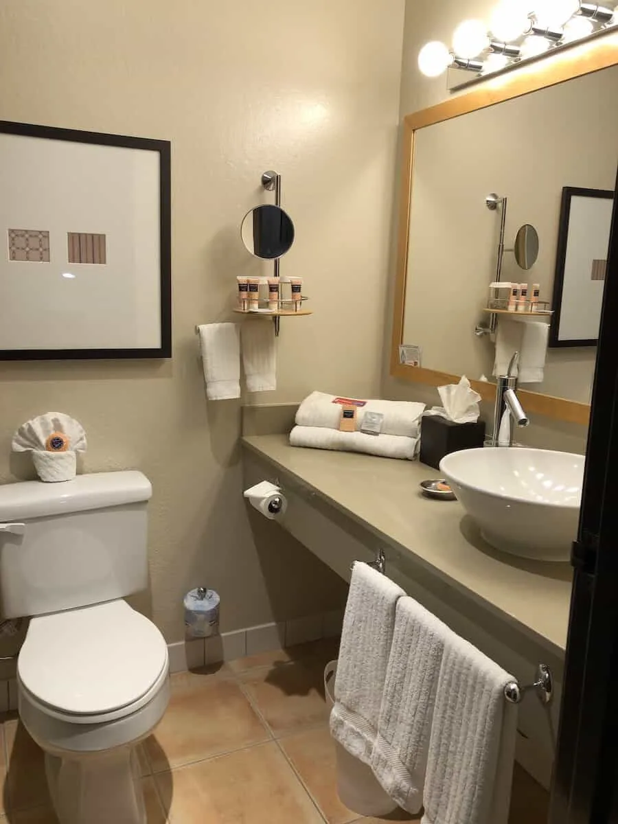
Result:
<svg viewBox="0 0 618 824"><path fill-rule="evenodd" d="M235 681L194 672L177 675L166 714L144 742L152 772L269 740Z"/></svg>

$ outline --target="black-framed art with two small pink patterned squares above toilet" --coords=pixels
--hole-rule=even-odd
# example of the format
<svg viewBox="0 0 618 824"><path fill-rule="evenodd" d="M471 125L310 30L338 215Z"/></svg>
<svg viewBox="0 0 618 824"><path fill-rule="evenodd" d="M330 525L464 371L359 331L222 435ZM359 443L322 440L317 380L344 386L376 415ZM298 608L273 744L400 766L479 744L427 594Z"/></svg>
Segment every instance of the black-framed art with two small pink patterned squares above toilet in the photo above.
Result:
<svg viewBox="0 0 618 824"><path fill-rule="evenodd" d="M0 359L170 358L170 143L0 121L0 180Z"/></svg>

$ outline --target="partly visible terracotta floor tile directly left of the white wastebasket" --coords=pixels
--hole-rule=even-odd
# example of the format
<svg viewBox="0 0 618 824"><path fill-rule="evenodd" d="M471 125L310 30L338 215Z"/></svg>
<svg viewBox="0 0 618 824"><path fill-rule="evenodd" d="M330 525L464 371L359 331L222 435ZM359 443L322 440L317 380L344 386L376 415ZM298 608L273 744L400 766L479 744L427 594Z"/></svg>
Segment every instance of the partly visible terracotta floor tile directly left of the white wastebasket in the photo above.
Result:
<svg viewBox="0 0 618 824"><path fill-rule="evenodd" d="M282 738L279 744L329 824L347 824L358 818L358 812L339 801L335 742L327 727L296 733Z"/></svg>

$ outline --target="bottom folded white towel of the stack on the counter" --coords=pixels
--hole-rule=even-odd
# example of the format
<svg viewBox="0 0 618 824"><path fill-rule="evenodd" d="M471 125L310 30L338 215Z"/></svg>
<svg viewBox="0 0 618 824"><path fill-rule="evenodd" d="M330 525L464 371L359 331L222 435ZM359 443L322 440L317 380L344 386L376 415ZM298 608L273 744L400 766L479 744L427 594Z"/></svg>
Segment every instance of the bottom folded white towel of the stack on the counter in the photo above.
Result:
<svg viewBox="0 0 618 824"><path fill-rule="evenodd" d="M399 435L366 435L363 432L339 432L319 426L295 426L290 433L293 447L339 449L342 452L364 452L382 458L404 458L414 461L419 438Z"/></svg>

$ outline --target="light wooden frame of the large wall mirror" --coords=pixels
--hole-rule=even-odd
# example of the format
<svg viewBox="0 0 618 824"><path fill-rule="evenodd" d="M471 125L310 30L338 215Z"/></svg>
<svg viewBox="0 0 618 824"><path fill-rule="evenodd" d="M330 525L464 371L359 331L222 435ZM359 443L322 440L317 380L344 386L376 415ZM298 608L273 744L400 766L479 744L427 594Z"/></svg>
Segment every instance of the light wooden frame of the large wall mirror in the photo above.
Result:
<svg viewBox="0 0 618 824"><path fill-rule="evenodd" d="M414 112L411 115L405 115L402 135L403 157L400 176L397 269L391 343L392 377L398 377L404 381L424 383L428 386L456 383L461 377L449 372L437 372L434 369L408 366L399 362L399 347L400 344L405 343L403 339L405 290L410 255L410 204L412 198L412 171L414 168L414 133L416 130L615 65L618 65L618 31L611 30L603 37L579 44L564 54L555 54L538 63L532 63L530 66L522 67L501 77L489 78L483 83L482 87L474 91L453 97L451 100ZM494 402L494 384L471 381L471 385L480 393L483 400ZM541 395L539 392L527 390L522 390L519 394L527 412L542 414L548 418L565 420L574 424L588 424L590 417L589 404L566 400L565 398L555 398L550 395Z"/></svg>

